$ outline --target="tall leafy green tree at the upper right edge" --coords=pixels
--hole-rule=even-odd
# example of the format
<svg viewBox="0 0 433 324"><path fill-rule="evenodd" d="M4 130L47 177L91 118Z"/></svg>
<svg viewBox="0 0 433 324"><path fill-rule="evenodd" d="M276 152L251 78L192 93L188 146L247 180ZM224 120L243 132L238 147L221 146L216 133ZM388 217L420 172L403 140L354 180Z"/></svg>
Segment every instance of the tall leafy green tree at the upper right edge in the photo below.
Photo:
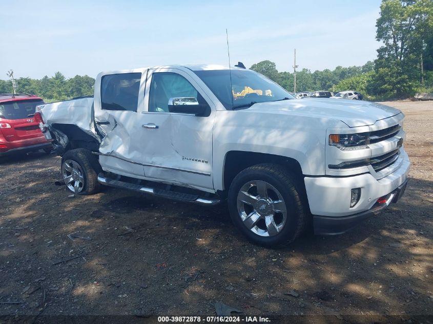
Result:
<svg viewBox="0 0 433 324"><path fill-rule="evenodd" d="M375 61L379 95L407 96L423 82L423 53L433 28L433 1L382 0L376 39L383 42ZM427 59L431 57L426 53Z"/></svg>

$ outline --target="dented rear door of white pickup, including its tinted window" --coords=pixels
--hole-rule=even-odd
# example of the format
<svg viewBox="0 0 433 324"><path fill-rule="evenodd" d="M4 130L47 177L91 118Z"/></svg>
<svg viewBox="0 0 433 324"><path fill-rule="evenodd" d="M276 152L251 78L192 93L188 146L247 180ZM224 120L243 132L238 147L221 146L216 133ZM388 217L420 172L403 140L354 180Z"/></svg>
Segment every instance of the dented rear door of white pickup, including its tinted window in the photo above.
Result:
<svg viewBox="0 0 433 324"><path fill-rule="evenodd" d="M95 124L104 138L99 146L102 169L144 179L141 153L137 150L141 125L146 69L100 74L95 83Z"/></svg>

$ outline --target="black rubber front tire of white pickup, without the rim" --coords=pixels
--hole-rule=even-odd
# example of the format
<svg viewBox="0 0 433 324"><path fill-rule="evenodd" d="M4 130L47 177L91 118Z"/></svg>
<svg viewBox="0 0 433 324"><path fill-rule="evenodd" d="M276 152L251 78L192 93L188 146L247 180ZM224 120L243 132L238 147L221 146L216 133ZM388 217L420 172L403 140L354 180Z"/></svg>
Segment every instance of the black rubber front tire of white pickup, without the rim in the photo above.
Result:
<svg viewBox="0 0 433 324"><path fill-rule="evenodd" d="M277 189L282 196L287 216L285 224L274 236L260 236L247 228L238 212L237 197L243 185L250 181L264 181ZM228 193L230 216L236 228L250 241L265 247L282 247L293 242L307 223L307 207L302 202L302 189L295 178L278 164L258 164L241 171L232 181Z"/></svg>

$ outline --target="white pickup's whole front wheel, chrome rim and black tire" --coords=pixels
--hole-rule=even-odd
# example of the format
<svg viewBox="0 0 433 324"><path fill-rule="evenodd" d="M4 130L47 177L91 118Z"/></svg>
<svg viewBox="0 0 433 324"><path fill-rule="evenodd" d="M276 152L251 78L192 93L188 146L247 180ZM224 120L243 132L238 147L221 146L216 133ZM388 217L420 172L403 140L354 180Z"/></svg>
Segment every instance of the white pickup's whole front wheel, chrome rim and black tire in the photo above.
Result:
<svg viewBox="0 0 433 324"><path fill-rule="evenodd" d="M292 175L276 164L258 164L241 171L230 186L228 203L235 226L262 246L291 243L305 225L300 188Z"/></svg>

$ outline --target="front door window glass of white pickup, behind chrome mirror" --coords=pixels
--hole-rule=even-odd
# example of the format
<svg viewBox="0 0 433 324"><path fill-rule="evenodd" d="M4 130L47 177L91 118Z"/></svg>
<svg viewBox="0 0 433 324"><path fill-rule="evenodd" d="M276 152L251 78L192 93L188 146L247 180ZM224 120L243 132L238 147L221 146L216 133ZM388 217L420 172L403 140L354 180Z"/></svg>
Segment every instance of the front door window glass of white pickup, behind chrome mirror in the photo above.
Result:
<svg viewBox="0 0 433 324"><path fill-rule="evenodd" d="M205 103L203 97L183 76L170 72L153 73L149 94L149 111L168 113L169 99L175 97L194 97L199 103Z"/></svg>

